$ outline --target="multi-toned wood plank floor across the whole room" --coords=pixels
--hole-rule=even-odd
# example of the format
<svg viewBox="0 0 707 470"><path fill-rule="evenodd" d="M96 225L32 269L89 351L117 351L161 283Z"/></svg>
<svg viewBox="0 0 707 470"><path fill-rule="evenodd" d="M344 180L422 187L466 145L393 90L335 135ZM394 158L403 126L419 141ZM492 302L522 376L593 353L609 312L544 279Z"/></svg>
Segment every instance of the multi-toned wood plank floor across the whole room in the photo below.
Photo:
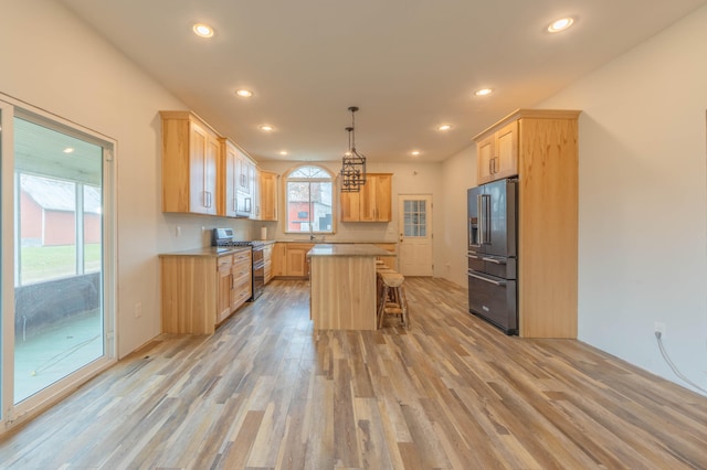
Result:
<svg viewBox="0 0 707 470"><path fill-rule="evenodd" d="M166 335L0 442L3 469L707 468L707 398L581 342L506 337L405 280L411 329L314 332L273 281L212 337Z"/></svg>

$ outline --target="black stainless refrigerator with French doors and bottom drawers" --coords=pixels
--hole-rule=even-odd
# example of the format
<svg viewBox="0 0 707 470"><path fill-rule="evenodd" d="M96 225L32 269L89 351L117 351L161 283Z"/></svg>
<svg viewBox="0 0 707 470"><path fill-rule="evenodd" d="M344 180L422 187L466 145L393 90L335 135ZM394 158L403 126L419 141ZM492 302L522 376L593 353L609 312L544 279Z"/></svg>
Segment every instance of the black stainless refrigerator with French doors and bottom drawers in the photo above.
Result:
<svg viewBox="0 0 707 470"><path fill-rule="evenodd" d="M468 309L518 334L517 188L507 179L467 191Z"/></svg>

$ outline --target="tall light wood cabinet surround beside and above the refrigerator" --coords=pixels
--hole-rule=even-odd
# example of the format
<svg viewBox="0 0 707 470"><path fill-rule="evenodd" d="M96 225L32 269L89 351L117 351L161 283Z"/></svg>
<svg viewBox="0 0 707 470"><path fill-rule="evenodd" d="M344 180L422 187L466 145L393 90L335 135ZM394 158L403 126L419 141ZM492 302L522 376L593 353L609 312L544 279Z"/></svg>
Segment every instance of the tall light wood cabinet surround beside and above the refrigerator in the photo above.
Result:
<svg viewBox="0 0 707 470"><path fill-rule="evenodd" d="M519 109L474 137L479 184L517 168L518 327L525 338L577 338L579 114Z"/></svg>

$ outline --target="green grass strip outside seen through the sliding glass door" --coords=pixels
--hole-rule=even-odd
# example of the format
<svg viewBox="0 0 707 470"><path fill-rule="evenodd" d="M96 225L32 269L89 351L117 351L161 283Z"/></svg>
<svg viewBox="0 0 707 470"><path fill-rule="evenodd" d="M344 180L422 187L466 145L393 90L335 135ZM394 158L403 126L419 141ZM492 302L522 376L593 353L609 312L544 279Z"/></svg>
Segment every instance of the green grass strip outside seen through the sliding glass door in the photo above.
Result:
<svg viewBox="0 0 707 470"><path fill-rule="evenodd" d="M21 248L22 285L76 275L76 246L27 246ZM101 270L101 244L85 245L85 273Z"/></svg>

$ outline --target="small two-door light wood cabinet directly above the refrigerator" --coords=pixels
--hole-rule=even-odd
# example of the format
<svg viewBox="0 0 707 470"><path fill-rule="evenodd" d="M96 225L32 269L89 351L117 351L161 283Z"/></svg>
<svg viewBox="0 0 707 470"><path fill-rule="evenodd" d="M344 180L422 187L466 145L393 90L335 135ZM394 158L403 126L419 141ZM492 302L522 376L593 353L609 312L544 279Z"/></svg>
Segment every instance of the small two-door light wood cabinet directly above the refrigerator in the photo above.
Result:
<svg viewBox="0 0 707 470"><path fill-rule="evenodd" d="M518 121L481 139L476 154L478 184L518 174Z"/></svg>

